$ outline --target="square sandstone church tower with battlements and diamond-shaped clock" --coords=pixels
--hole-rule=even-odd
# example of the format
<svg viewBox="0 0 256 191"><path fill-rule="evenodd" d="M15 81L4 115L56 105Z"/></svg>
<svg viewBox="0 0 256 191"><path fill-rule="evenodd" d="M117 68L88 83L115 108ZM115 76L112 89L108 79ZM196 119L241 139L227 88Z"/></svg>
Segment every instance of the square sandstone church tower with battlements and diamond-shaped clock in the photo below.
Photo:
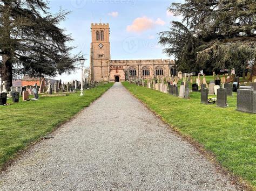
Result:
<svg viewBox="0 0 256 191"><path fill-rule="evenodd" d="M91 24L91 80L109 81L110 41L109 24Z"/></svg>

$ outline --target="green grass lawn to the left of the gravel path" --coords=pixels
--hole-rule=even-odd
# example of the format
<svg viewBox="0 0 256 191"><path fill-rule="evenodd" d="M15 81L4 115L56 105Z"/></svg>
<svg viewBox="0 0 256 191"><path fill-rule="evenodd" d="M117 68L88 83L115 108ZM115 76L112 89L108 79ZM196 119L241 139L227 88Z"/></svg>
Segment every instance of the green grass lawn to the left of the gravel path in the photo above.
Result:
<svg viewBox="0 0 256 191"><path fill-rule="evenodd" d="M40 97L39 101L23 102L0 107L0 168L29 143L47 135L59 124L68 121L113 83L65 97ZM11 103L11 99L8 100Z"/></svg>

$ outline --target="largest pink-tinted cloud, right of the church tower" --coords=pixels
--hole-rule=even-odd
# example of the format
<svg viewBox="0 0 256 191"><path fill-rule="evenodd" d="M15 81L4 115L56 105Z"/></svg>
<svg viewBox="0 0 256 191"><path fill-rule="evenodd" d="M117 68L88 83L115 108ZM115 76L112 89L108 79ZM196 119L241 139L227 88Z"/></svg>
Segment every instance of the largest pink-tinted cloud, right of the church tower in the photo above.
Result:
<svg viewBox="0 0 256 191"><path fill-rule="evenodd" d="M144 17L138 17L133 20L132 25L128 25L126 30L128 32L143 32L146 30L153 29L156 25L165 25L164 20L158 18L156 21L153 19Z"/></svg>

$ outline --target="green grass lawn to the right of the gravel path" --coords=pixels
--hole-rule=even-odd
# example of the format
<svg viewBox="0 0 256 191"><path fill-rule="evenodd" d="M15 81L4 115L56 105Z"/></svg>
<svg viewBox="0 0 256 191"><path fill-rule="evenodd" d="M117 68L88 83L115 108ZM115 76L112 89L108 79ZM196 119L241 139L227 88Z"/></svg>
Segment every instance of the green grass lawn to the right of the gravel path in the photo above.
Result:
<svg viewBox="0 0 256 191"><path fill-rule="evenodd" d="M201 104L198 92L185 100L129 82L123 85L165 122L204 145L221 165L255 188L256 115L236 111L236 93L227 98L228 108L218 108Z"/></svg>

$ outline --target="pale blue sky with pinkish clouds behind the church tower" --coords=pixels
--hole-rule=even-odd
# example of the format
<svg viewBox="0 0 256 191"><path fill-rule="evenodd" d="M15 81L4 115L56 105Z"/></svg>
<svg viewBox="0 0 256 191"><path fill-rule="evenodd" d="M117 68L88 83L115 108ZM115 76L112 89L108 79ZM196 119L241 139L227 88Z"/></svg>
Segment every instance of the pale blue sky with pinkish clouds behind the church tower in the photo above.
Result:
<svg viewBox="0 0 256 191"><path fill-rule="evenodd" d="M111 59L168 59L158 44L158 32L166 31L172 20L180 20L167 7L167 0L50 0L50 11L60 8L72 11L60 24L71 34L76 46L72 53L82 52L89 66L91 23L110 24ZM173 59L173 58L171 58ZM80 73L63 74L56 79L79 80Z"/></svg>

